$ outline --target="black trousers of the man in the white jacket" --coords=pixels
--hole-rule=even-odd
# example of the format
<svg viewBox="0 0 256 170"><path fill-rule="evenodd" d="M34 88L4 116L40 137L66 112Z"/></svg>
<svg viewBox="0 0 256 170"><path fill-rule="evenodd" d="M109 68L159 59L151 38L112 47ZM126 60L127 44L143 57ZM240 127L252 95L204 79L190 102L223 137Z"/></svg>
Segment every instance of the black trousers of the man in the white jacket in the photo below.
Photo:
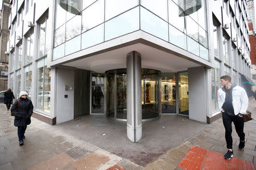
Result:
<svg viewBox="0 0 256 170"><path fill-rule="evenodd" d="M225 127L225 139L226 139L226 147L228 149L232 149L233 139L232 139L232 122L234 122L234 126L240 141L245 141L245 133L243 133L243 117L237 115L229 116L226 112L222 112L222 121Z"/></svg>

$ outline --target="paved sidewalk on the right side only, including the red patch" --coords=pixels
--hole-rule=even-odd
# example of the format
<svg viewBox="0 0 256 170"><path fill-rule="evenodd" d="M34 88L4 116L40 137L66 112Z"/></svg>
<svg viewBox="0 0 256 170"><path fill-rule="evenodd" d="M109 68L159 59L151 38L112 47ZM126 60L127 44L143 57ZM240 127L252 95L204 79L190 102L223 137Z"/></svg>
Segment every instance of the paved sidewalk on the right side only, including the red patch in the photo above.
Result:
<svg viewBox="0 0 256 170"><path fill-rule="evenodd" d="M226 154L225 129L222 118L214 121L199 134L185 140L179 146L166 152L148 164L144 169L253 169L256 170L256 101L249 100L248 110L254 120L245 122L245 148L240 150L240 142L234 125L233 152L230 160Z"/></svg>

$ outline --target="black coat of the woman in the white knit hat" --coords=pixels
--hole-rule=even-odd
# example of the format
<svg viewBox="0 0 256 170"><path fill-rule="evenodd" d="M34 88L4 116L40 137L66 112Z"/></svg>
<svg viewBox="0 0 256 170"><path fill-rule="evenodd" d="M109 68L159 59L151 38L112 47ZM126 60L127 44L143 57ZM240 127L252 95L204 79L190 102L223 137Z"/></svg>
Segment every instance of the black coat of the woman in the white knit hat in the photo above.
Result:
<svg viewBox="0 0 256 170"><path fill-rule="evenodd" d="M19 100L18 110L17 104ZM33 104L30 99L18 99L14 102L13 107L11 107L11 113L13 113L14 126L27 126L31 123L30 117L33 113Z"/></svg>

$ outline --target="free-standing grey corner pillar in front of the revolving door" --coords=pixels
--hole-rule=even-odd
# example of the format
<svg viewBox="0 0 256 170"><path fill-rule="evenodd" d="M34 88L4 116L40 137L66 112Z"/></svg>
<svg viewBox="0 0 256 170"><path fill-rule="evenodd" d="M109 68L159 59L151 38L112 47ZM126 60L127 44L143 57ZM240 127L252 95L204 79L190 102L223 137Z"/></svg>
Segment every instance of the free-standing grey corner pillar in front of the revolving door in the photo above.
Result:
<svg viewBox="0 0 256 170"><path fill-rule="evenodd" d="M141 110L141 54L130 52L126 58L127 66L127 137L138 142L142 137Z"/></svg>

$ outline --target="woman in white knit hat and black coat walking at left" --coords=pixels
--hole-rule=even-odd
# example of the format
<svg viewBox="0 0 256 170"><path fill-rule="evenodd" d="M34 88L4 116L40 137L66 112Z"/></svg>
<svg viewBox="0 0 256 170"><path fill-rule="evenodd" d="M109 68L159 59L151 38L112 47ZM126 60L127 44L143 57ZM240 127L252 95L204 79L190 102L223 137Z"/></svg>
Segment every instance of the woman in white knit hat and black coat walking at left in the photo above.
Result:
<svg viewBox="0 0 256 170"><path fill-rule="evenodd" d="M33 113L33 104L30 99L27 98L27 92L21 91L19 99L16 100L11 107L11 114L15 116L14 126L18 127L19 145L23 145L24 133L27 129L27 125L31 123L31 115Z"/></svg>

